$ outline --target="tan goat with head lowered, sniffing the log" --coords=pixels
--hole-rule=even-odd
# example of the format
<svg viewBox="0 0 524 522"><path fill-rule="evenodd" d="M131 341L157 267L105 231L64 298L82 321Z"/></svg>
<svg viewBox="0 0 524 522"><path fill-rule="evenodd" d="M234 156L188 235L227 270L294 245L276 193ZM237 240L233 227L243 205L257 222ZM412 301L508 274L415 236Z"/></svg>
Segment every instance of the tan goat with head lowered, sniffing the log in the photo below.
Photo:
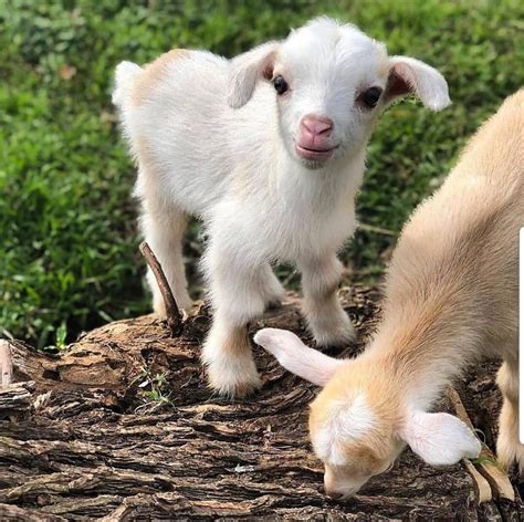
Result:
<svg viewBox="0 0 524 522"><path fill-rule="evenodd" d="M324 386L312 404L313 447L334 498L385 471L406 442L426 462L476 457L480 443L449 414L428 413L471 362L502 357L497 453L524 471L518 442L518 230L524 226L524 90L471 139L442 188L406 225L389 268L382 320L368 348L335 359L291 332L255 342Z"/></svg>

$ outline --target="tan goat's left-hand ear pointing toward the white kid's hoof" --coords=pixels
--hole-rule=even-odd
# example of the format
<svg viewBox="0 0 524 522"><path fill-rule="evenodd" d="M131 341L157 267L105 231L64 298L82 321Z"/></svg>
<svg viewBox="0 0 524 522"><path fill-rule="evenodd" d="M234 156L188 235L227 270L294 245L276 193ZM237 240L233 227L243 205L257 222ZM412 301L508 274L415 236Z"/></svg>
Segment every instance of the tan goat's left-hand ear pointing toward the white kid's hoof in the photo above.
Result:
<svg viewBox="0 0 524 522"><path fill-rule="evenodd" d="M317 386L325 386L344 359L336 359L308 348L294 333L264 328L254 342L273 354L284 368Z"/></svg>

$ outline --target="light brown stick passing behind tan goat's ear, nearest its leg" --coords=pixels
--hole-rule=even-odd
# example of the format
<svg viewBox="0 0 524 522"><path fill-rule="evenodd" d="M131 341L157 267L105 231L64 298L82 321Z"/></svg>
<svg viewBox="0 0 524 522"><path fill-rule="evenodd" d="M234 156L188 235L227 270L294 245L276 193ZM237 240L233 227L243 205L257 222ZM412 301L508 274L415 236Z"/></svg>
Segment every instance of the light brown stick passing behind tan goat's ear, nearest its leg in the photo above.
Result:
<svg viewBox="0 0 524 522"><path fill-rule="evenodd" d="M465 422L474 431L473 422L471 421L470 416L468 415L468 411L465 410L462 399L460 398L460 395L457 393L457 390L449 388L448 398L453 405L453 408L460 420ZM504 471L502 471L502 469L496 466L495 462L496 457L493 455L490 448L488 448L488 446L482 445L482 451L478 462L480 472L485 477L493 493L496 497L514 501L515 491L513 486L507 478L507 474L504 473ZM475 479L475 477L473 477L473 479Z"/></svg>

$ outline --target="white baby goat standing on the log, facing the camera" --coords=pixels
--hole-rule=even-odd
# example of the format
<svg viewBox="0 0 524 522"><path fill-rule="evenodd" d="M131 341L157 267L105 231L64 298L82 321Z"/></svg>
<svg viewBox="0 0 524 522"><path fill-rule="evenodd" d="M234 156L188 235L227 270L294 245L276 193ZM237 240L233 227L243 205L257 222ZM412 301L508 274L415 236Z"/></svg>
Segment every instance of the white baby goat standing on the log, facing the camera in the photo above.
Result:
<svg viewBox="0 0 524 522"><path fill-rule="evenodd" d="M214 317L202 361L212 388L233 395L260 385L247 324L282 296L275 261L298 265L319 345L353 337L336 295L336 252L356 226L374 124L408 93L433 111L450 103L434 69L388 58L384 44L326 18L233 60L175 50L144 69L118 65L114 102L138 161L143 232L182 307L187 216L201 217L209 233L202 265Z"/></svg>

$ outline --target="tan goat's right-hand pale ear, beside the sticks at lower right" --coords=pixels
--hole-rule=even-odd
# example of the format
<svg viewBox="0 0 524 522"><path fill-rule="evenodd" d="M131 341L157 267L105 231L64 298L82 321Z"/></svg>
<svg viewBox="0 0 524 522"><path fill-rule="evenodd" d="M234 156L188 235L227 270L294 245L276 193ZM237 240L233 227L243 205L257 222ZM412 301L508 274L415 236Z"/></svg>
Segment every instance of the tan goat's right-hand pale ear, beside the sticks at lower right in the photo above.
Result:
<svg viewBox="0 0 524 522"><path fill-rule="evenodd" d="M481 443L462 420L449 414L410 415L400 437L430 466L451 466L463 458L473 459Z"/></svg>

